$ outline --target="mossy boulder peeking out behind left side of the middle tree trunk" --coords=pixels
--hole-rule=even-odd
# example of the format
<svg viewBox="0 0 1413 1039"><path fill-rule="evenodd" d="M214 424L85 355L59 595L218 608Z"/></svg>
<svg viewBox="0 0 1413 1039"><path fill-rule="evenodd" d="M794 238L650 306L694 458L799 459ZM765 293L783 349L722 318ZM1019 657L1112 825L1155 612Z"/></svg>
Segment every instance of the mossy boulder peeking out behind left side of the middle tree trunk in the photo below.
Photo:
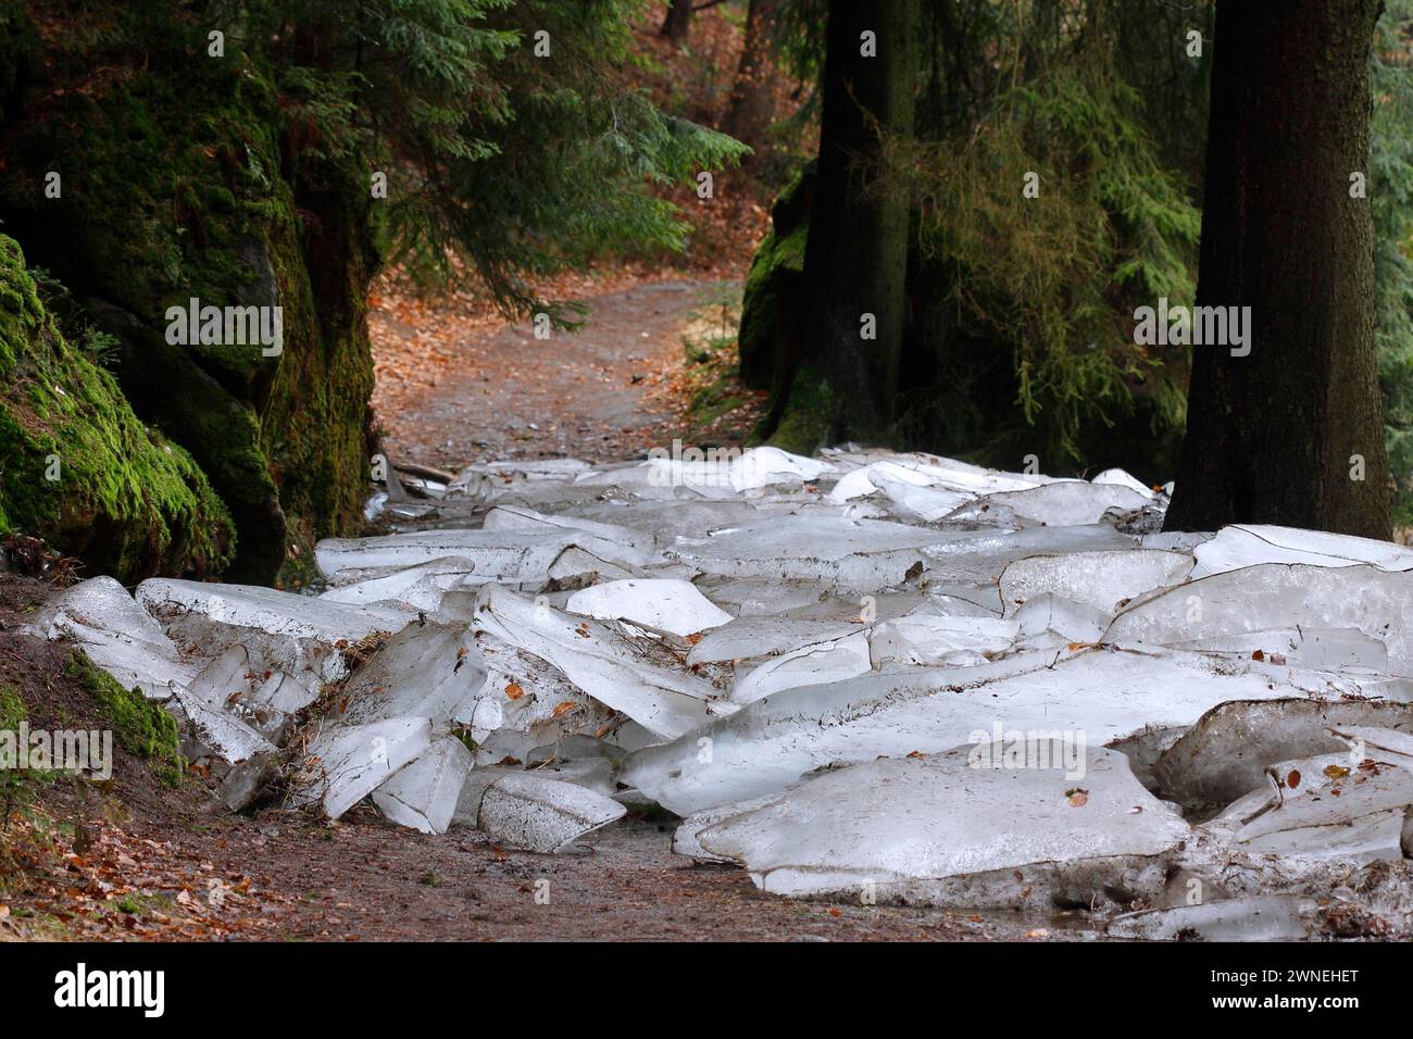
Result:
<svg viewBox="0 0 1413 1039"><path fill-rule="evenodd" d="M740 380L757 390L773 389L788 370L804 314L804 252L810 239L810 205L815 163L808 163L770 209L770 232L760 242L740 307Z"/></svg>

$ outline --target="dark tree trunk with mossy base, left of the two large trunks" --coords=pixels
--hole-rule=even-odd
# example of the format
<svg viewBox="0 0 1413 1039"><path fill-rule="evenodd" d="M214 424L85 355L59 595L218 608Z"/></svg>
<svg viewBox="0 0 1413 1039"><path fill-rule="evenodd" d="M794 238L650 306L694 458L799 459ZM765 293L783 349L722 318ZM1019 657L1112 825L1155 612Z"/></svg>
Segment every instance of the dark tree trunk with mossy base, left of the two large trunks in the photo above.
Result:
<svg viewBox="0 0 1413 1039"><path fill-rule="evenodd" d="M913 133L920 23L920 0L829 3L805 328L794 375L760 430L788 450L889 433L907 310L909 201L870 187L883 134ZM865 338L869 325L873 338Z"/></svg>

